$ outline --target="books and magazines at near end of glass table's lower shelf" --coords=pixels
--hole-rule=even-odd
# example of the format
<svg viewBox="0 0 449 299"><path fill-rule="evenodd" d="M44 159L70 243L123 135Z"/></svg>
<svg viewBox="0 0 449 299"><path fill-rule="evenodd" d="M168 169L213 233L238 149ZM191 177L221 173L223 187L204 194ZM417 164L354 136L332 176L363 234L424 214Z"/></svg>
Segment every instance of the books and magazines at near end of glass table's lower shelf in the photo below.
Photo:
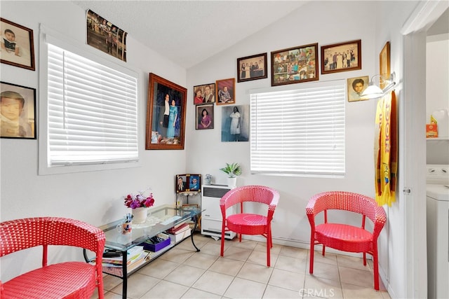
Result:
<svg viewBox="0 0 449 299"><path fill-rule="evenodd" d="M128 250L128 254L126 256L126 269L128 272L142 265L147 256L148 252L143 249L143 246L134 246ZM123 256L121 254L112 257L103 256L102 271L123 277Z"/></svg>

